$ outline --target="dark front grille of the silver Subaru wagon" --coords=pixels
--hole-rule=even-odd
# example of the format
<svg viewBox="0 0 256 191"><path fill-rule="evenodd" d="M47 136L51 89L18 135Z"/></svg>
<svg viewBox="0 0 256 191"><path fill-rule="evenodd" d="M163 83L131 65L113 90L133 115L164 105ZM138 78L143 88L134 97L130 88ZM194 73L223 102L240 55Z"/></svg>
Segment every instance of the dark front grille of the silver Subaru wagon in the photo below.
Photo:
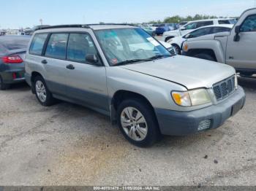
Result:
<svg viewBox="0 0 256 191"><path fill-rule="evenodd" d="M227 78L214 85L214 95L217 101L227 98L235 90L235 76Z"/></svg>

